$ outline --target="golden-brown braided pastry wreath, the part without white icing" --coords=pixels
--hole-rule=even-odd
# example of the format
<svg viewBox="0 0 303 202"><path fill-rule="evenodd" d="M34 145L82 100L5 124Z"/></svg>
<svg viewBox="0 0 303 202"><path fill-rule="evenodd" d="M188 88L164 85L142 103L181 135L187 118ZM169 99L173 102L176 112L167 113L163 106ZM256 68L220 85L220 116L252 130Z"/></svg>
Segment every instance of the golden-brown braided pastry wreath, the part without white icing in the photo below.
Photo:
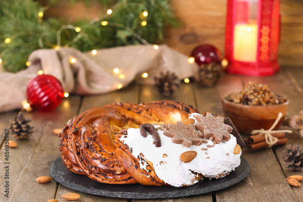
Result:
<svg viewBox="0 0 303 202"><path fill-rule="evenodd" d="M70 171L102 183L169 185L156 175L152 162L148 162L148 170L140 169L139 156L133 156L132 148L120 139L128 128L176 124L197 112L173 101L114 103L88 109L70 119L59 134L62 162Z"/></svg>

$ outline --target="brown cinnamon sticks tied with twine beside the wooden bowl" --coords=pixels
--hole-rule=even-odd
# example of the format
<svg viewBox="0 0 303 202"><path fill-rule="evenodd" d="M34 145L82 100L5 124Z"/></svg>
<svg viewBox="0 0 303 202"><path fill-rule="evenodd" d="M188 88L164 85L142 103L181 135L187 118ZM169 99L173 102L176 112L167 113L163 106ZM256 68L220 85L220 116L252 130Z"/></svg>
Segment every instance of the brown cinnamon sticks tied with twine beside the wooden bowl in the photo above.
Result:
<svg viewBox="0 0 303 202"><path fill-rule="evenodd" d="M273 137L277 137L278 141L275 145L281 145L286 144L287 139L285 138L285 133L273 133L271 134ZM268 144L265 141L265 135L264 134L258 134L258 135L252 135L248 138L244 139L245 144L248 149L250 150L256 150L263 147L268 147Z"/></svg>

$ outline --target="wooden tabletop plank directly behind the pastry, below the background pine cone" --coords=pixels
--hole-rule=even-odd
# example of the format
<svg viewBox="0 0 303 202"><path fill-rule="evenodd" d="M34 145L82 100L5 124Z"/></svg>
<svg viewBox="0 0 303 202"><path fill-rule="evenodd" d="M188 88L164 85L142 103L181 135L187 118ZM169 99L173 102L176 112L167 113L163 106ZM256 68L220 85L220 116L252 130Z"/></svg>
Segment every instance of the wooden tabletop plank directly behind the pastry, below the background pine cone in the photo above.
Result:
<svg viewBox="0 0 303 202"><path fill-rule="evenodd" d="M195 83L194 83L195 84ZM140 102L150 102L157 100L172 100L176 102L184 102L191 106L197 107L194 99L193 91L196 85L192 83L181 83L179 89L172 94L171 97L162 96L153 85L142 86Z"/></svg>

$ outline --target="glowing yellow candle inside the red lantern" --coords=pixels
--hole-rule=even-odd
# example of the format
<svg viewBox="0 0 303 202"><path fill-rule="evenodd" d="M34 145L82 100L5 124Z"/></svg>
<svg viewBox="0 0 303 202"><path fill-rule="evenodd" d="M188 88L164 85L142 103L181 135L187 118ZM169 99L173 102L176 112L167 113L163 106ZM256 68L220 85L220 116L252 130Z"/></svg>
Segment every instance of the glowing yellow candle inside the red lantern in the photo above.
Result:
<svg viewBox="0 0 303 202"><path fill-rule="evenodd" d="M255 62L257 58L258 25L235 25L234 59L243 62Z"/></svg>

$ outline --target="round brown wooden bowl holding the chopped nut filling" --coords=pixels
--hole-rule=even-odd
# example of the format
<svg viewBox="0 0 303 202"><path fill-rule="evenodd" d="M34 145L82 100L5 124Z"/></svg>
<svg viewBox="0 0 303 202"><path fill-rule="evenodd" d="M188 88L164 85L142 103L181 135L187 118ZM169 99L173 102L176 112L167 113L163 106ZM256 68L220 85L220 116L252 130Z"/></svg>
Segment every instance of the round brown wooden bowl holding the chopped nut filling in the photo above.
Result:
<svg viewBox="0 0 303 202"><path fill-rule="evenodd" d="M273 130L278 129L285 118L289 103L286 101L283 104L273 106L250 106L227 101L226 96L222 99L225 116L231 119L239 132L248 134L261 128L268 130L281 112L282 118Z"/></svg>

